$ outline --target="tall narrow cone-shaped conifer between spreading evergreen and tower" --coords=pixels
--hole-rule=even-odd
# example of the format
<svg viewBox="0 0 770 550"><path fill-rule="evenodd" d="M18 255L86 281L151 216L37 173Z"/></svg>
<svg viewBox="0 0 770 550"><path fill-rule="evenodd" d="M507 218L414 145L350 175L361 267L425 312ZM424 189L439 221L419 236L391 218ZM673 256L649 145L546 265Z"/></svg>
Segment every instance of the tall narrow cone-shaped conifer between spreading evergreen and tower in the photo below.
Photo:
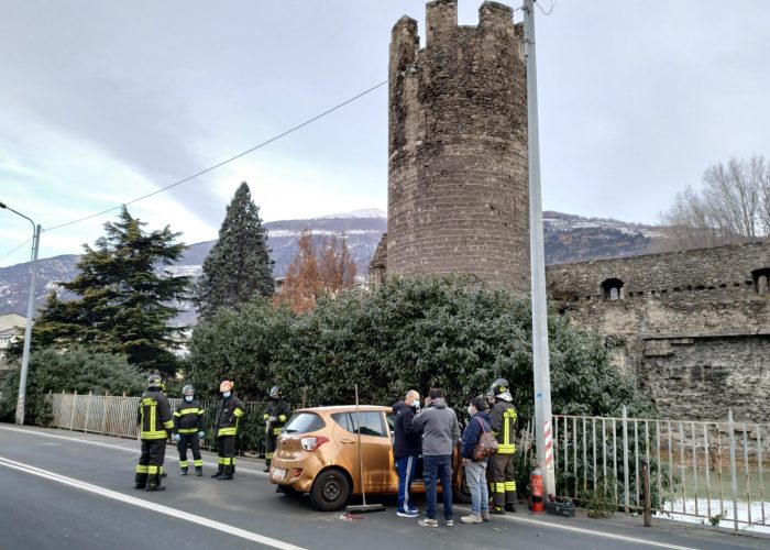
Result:
<svg viewBox="0 0 770 550"><path fill-rule="evenodd" d="M243 182L228 206L219 241L204 261L196 307L201 316L238 309L254 296L272 296L275 282L267 231Z"/></svg>

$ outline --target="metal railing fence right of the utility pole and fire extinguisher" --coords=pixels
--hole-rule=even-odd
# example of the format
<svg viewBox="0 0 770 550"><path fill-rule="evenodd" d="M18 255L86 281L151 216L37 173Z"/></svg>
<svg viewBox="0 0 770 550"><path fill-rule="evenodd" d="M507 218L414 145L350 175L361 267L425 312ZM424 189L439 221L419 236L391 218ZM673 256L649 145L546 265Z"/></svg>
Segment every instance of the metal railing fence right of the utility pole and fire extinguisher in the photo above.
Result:
<svg viewBox="0 0 770 550"><path fill-rule="evenodd" d="M558 491L582 501L602 492L626 514L644 505L649 463L653 510L735 529L770 526L765 466L770 426L554 415Z"/></svg>

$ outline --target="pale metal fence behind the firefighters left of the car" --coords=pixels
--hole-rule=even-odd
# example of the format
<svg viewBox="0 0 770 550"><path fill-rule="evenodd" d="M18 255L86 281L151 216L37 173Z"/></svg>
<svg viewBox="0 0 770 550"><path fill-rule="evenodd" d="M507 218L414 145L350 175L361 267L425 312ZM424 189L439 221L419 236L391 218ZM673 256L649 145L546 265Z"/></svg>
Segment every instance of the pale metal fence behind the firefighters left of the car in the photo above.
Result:
<svg viewBox="0 0 770 550"><path fill-rule="evenodd" d="M46 398L51 404L51 427L120 438L139 438L136 411L141 397L62 393L48 394ZM180 400L178 398L168 399L172 410ZM262 413L263 405L260 403L245 402L243 405L250 416ZM205 431L207 435L211 435L221 402L200 400L200 406L206 410ZM212 437L205 438L201 443L204 448L208 449L211 449L213 444Z"/></svg>

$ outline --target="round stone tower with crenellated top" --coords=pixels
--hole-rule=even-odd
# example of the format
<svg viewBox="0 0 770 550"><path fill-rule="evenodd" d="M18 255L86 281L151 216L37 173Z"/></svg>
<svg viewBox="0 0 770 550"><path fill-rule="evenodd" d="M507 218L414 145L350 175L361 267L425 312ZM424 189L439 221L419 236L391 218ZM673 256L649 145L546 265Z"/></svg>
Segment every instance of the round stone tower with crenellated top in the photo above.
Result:
<svg viewBox="0 0 770 550"><path fill-rule="evenodd" d="M529 292L526 69L513 11L457 0L393 28L387 273L466 274Z"/></svg>

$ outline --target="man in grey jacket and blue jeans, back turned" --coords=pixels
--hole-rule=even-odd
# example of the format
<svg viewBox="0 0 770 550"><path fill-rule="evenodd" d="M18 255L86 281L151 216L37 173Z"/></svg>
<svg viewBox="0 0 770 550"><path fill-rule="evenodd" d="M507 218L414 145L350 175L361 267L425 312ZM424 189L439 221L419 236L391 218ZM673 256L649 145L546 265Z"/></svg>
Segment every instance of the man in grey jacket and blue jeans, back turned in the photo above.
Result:
<svg viewBox="0 0 770 550"><path fill-rule="evenodd" d="M418 521L424 527L438 527L436 519L436 482L441 482L443 517L447 527L454 526L452 515L452 452L460 441L460 425L454 410L447 407L443 392L433 387L429 393L430 405L413 420L415 429L422 431L422 470L425 493L428 501L426 517Z"/></svg>

